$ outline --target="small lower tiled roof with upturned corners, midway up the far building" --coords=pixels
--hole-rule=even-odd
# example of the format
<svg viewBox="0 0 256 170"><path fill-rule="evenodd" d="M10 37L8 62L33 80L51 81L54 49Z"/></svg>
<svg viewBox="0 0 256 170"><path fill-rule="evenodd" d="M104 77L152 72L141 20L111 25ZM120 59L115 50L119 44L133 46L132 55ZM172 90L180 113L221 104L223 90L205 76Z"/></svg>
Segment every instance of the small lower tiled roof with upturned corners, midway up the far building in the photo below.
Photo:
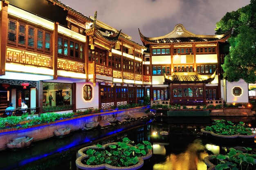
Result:
<svg viewBox="0 0 256 170"><path fill-rule="evenodd" d="M164 82L165 84L210 83L214 80L216 71L212 75L200 75L198 72L174 72L171 76L164 74Z"/></svg>

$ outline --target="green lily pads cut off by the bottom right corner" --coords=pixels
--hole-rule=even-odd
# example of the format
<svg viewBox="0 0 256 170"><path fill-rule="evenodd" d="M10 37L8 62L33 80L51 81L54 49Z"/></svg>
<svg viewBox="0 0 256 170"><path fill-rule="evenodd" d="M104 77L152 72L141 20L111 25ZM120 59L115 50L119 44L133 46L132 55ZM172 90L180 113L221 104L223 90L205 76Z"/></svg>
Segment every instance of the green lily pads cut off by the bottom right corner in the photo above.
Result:
<svg viewBox="0 0 256 170"><path fill-rule="evenodd" d="M211 155L211 159L217 160L215 170L255 170L256 154L252 152L252 148L243 148L247 153L241 150L230 148L227 155ZM248 152L251 152L250 154ZM207 163L207 159L204 161ZM213 165L214 166L214 165Z"/></svg>

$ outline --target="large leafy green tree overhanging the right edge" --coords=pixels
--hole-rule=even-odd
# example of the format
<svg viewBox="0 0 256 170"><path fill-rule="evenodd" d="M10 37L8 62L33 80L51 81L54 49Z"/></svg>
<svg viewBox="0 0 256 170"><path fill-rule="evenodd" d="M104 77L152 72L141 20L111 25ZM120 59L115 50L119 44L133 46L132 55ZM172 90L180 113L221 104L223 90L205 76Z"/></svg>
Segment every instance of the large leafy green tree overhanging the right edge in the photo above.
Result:
<svg viewBox="0 0 256 170"><path fill-rule="evenodd" d="M229 54L222 64L223 77L229 82L240 78L247 83L256 82L256 0L245 7L226 13L216 24L216 34L232 34L228 39Z"/></svg>

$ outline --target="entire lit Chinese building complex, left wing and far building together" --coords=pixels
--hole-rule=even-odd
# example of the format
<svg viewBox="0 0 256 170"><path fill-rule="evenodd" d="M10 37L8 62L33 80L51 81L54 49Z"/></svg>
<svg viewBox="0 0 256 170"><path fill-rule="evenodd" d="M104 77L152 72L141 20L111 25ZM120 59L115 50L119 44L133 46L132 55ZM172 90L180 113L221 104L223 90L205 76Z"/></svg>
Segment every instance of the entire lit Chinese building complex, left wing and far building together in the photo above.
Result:
<svg viewBox="0 0 256 170"><path fill-rule="evenodd" d="M143 46L97 12L87 17L58 0L0 2L0 110L24 101L40 113L110 108L144 95L171 104L233 102L229 88L246 95L220 75L230 32L195 35L178 24L162 37L139 32Z"/></svg>

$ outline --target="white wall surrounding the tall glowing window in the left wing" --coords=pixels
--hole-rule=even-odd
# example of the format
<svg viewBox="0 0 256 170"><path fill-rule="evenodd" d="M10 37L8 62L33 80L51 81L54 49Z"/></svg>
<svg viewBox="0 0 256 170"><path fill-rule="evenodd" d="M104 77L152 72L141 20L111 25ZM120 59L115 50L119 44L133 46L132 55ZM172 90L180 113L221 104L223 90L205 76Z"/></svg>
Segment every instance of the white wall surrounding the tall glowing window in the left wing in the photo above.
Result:
<svg viewBox="0 0 256 170"><path fill-rule="evenodd" d="M85 101L83 99L83 86L85 84L90 84L92 86L92 99L90 101ZM76 109L80 108L98 108L99 107L99 84L93 86L90 82L76 83Z"/></svg>

